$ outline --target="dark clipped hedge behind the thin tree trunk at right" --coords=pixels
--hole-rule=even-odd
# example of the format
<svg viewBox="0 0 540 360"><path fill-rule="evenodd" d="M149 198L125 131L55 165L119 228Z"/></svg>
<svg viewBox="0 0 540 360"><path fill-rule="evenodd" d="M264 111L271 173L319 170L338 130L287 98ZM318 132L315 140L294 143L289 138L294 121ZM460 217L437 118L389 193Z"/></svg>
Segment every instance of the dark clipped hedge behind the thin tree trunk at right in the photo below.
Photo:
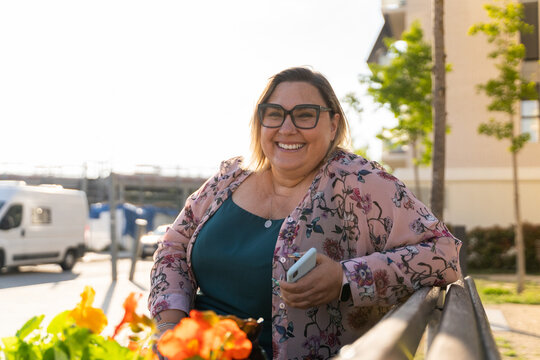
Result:
<svg viewBox="0 0 540 360"><path fill-rule="evenodd" d="M540 239L540 225L523 224L525 264L529 272L540 271L535 240ZM514 227L475 228L467 233L467 264L472 270L511 271L516 268Z"/></svg>

